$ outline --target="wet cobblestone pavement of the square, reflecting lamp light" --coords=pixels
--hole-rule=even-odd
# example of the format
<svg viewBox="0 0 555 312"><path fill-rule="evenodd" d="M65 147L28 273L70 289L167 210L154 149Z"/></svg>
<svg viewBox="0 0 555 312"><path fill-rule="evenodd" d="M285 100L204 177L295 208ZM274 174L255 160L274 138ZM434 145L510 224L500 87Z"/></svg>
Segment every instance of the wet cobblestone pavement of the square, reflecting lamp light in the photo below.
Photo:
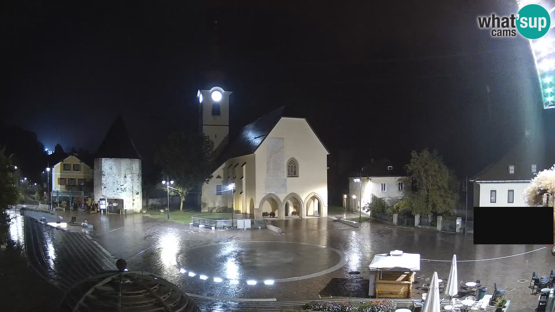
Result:
<svg viewBox="0 0 555 312"><path fill-rule="evenodd" d="M68 219L74 213L58 214ZM331 218L273 220L285 233L276 235L268 229L203 231L144 214L76 215L78 222L88 217L95 227L89 235L116 258L126 259L130 269L160 274L187 293L208 297L364 298L373 256L400 249L430 259L422 261L419 272L428 277L433 271L440 278L448 276L452 255L457 254L459 280L481 280L489 293L497 283L506 288L512 311L532 311L537 305L537 295L528 288L532 271L545 275L555 268L551 246L517 255L546 246L473 245L471 235L381 222L352 228ZM352 271L360 274L349 274ZM273 284L264 284L270 279ZM247 280L257 283L249 285ZM418 286L413 298L423 292Z"/></svg>

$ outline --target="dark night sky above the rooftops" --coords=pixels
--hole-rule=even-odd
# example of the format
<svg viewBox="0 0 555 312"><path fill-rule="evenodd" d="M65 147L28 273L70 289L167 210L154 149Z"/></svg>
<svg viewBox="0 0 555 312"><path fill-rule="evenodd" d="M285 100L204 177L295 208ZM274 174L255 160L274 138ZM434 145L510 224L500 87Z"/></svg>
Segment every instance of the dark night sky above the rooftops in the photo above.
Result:
<svg viewBox="0 0 555 312"><path fill-rule="evenodd" d="M332 153L437 148L464 176L553 120L527 41L477 26L516 2L239 3L4 2L2 121L94 151L122 114L145 154L197 127L196 90L218 69L232 133L288 104Z"/></svg>

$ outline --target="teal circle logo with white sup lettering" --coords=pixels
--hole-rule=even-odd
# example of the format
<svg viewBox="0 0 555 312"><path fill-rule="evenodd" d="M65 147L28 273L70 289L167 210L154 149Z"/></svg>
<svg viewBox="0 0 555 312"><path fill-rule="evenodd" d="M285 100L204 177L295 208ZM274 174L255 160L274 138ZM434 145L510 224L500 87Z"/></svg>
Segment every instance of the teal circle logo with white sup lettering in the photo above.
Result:
<svg viewBox="0 0 555 312"><path fill-rule="evenodd" d="M538 4L528 4L518 11L517 29L528 39L538 39L547 33L551 25L549 12Z"/></svg>

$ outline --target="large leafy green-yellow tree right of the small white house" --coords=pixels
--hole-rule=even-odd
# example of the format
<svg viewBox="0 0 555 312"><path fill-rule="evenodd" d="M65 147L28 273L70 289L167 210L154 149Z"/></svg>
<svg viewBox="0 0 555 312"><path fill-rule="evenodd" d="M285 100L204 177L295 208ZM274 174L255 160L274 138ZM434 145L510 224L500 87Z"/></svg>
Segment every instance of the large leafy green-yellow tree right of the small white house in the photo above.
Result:
<svg viewBox="0 0 555 312"><path fill-rule="evenodd" d="M412 177L413 187L407 188L403 199L395 204L395 210L425 215L451 212L458 202L455 174L443 164L437 152L430 153L423 149L417 153L413 150L411 155L412 159L406 168Z"/></svg>

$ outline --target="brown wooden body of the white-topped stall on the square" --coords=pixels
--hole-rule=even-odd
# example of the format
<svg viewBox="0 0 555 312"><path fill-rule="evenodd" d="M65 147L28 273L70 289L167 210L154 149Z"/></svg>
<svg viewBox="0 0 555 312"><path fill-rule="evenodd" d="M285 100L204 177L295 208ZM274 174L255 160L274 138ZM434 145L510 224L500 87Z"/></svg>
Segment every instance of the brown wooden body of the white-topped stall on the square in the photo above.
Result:
<svg viewBox="0 0 555 312"><path fill-rule="evenodd" d="M376 298L410 299L414 276L411 271L376 271Z"/></svg>

